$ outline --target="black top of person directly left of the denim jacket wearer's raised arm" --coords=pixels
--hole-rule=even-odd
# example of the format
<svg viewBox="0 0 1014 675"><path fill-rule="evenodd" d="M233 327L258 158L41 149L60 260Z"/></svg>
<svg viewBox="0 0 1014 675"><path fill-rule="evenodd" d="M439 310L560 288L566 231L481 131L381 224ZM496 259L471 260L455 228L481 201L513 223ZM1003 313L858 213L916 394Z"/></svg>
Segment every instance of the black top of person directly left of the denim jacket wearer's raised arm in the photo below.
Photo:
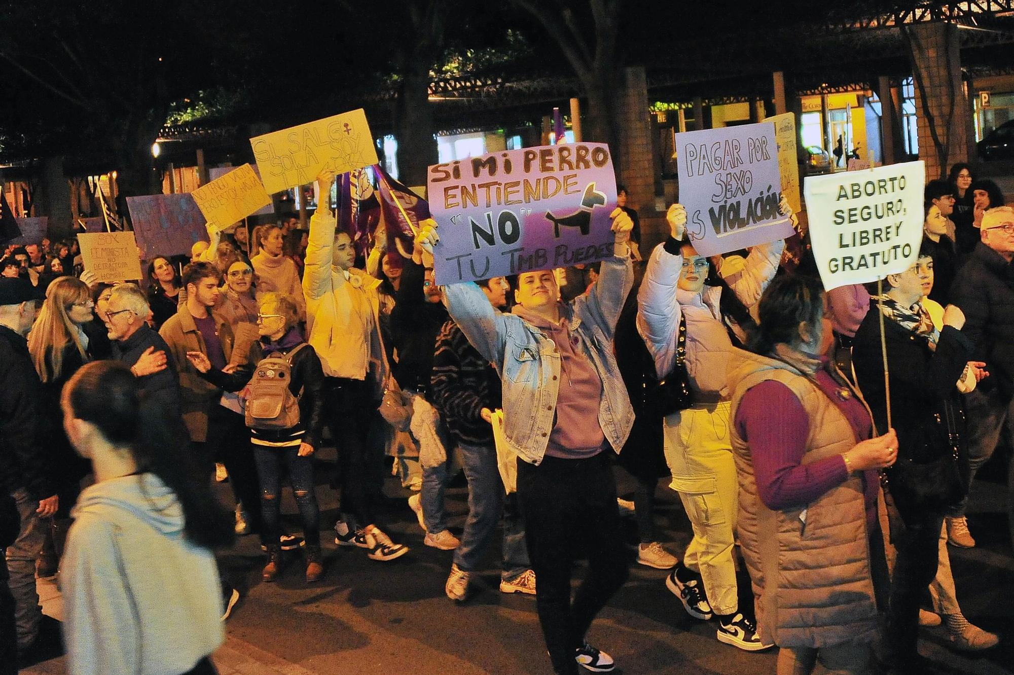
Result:
<svg viewBox="0 0 1014 675"><path fill-rule="evenodd" d="M390 330L397 350L397 364L392 371L399 385L408 391L429 389L437 333L450 318L443 303L427 302L423 297L425 276L423 266L405 261L390 312Z"/></svg>

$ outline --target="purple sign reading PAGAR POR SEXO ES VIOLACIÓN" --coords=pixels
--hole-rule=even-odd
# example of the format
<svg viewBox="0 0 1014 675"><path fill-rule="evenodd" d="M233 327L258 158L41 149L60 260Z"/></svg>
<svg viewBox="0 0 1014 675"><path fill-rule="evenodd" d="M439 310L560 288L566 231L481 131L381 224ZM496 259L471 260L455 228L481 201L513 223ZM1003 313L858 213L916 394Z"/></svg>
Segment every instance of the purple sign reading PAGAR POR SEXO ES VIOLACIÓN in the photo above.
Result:
<svg viewBox="0 0 1014 675"><path fill-rule="evenodd" d="M770 122L676 134L676 157L686 233L702 255L794 232L779 211L782 178Z"/></svg>

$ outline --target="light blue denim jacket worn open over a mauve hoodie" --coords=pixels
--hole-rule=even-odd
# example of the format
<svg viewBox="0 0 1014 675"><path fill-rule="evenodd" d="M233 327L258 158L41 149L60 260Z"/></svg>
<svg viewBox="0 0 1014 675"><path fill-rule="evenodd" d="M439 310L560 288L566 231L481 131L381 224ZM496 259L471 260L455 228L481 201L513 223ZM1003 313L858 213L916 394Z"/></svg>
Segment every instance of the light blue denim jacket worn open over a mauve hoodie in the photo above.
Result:
<svg viewBox="0 0 1014 675"><path fill-rule="evenodd" d="M600 276L590 292L561 307L561 316L567 318L580 349L602 380L598 424L617 452L630 435L634 408L617 367L612 336L633 285L630 258L609 257L602 260ZM494 309L474 283L444 287L444 304L468 342L500 374L507 445L526 462L541 463L560 387L556 344L520 316Z"/></svg>

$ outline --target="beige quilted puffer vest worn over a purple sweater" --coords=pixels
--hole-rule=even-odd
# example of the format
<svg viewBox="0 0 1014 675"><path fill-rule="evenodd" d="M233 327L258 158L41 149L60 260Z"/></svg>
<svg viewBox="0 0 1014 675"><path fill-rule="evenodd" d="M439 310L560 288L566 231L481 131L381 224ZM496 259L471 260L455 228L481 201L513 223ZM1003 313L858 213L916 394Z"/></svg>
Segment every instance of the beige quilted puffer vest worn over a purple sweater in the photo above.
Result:
<svg viewBox="0 0 1014 675"><path fill-rule="evenodd" d="M792 366L736 350L729 367L730 420L746 391L766 380L789 387L809 419L803 464L841 454L856 444L845 415ZM753 582L757 628L779 647L870 643L876 602L870 577L863 479L853 473L806 505L773 511L757 495L750 448L731 424L739 477L737 529ZM805 523L800 516L805 511Z"/></svg>

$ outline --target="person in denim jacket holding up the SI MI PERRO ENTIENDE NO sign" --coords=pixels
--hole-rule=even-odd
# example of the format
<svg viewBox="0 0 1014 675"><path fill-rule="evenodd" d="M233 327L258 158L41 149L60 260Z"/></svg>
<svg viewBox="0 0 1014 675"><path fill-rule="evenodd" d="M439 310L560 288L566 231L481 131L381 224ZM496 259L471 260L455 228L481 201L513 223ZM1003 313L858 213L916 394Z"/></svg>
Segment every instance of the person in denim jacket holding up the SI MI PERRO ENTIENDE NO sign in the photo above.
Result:
<svg viewBox="0 0 1014 675"><path fill-rule="evenodd" d="M614 255L602 261L590 292L558 300L551 270L518 277L511 314L490 304L473 283L444 287L444 303L468 342L501 375L504 439L518 455L517 497L538 583L538 620L554 670L576 675L580 664L612 670L607 654L585 633L627 580L627 553L611 463L634 424L634 410L612 354L612 335L634 282L633 223L611 214ZM417 238L429 253L437 224ZM571 542L588 544L589 572L571 600L576 556Z"/></svg>

